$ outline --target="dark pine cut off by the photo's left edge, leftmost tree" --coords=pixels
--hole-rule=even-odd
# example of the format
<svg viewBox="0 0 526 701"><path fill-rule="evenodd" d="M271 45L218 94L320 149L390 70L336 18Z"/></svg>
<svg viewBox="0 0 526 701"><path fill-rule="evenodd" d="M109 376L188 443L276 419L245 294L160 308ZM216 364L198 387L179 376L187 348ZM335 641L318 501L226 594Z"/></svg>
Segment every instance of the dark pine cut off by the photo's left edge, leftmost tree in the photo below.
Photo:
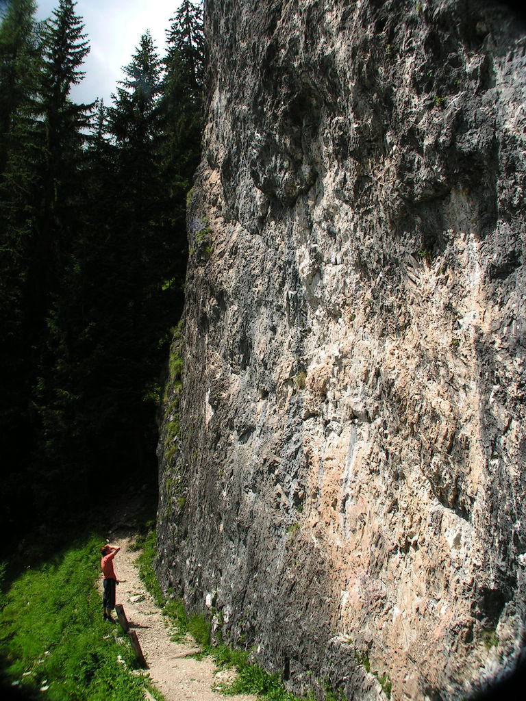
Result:
<svg viewBox="0 0 526 701"><path fill-rule="evenodd" d="M38 198L33 163L41 151L34 105L39 93L39 25L36 3L11 0L0 25L0 435L3 516L25 497L20 465L32 445L34 337L27 310L27 275L34 237L32 203ZM4 532L4 529L2 529Z"/></svg>

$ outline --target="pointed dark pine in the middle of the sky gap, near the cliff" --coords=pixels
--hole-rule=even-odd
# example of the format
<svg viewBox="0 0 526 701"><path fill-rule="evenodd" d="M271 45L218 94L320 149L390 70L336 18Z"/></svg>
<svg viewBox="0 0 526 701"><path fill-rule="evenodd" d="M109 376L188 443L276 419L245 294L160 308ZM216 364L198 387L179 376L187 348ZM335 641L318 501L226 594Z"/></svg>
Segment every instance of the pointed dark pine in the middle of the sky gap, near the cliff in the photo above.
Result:
<svg viewBox="0 0 526 701"><path fill-rule="evenodd" d="M151 399L144 399L159 376L160 327L166 325L159 297L171 266L170 247L163 243L159 226L166 187L159 170L161 62L149 32L141 37L124 74L108 110L116 196L107 250L108 274L114 280L107 290L113 292L107 350L111 348L108 366L114 370L112 393L118 400L114 435L119 436L121 449L135 444L128 464L138 467L144 440L150 442L153 454L154 406ZM123 407L127 407L126 421ZM144 430L149 434L146 439Z"/></svg>

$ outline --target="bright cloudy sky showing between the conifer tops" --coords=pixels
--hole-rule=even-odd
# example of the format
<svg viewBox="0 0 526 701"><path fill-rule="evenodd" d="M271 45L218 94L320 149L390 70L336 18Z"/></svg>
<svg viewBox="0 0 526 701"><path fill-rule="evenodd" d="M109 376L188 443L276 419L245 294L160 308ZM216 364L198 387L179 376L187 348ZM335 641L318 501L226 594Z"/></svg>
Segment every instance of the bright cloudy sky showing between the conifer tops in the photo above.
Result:
<svg viewBox="0 0 526 701"><path fill-rule="evenodd" d="M58 0L37 0L36 18L49 18ZM93 102L102 97L111 103L116 82L123 78L126 66L147 29L157 52L163 55L165 30L177 11L180 0L77 0L76 14L83 18L91 50L83 64L86 77L72 90L76 102Z"/></svg>

